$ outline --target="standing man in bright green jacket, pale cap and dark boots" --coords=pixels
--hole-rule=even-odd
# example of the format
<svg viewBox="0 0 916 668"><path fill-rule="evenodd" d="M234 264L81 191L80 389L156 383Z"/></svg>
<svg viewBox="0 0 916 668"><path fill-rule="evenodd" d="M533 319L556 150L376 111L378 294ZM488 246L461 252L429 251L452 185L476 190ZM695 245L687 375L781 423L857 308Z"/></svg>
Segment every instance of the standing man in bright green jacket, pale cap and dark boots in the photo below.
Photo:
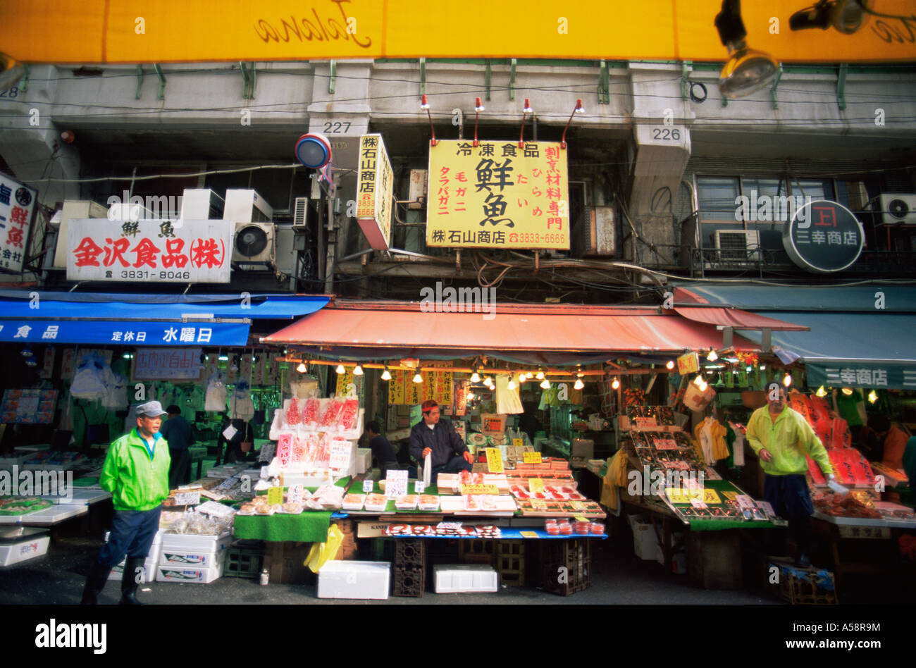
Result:
<svg viewBox="0 0 916 668"><path fill-rule="evenodd" d="M159 433L166 411L158 401L136 407L136 429L108 448L100 484L111 492L114 521L108 542L93 564L82 603L94 605L112 568L127 557L121 578L121 603L138 605L136 587L156 531L162 501L169 496L169 444Z"/></svg>

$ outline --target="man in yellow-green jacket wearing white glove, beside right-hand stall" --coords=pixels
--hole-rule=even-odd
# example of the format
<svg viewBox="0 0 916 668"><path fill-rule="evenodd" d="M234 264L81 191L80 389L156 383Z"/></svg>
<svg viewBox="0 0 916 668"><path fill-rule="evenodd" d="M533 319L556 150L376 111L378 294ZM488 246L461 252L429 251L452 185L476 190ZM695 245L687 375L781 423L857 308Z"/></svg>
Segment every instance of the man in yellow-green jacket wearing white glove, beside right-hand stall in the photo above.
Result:
<svg viewBox="0 0 916 668"><path fill-rule="evenodd" d="M811 514L814 507L805 474L808 454L824 476L834 479L830 457L811 425L801 413L786 405L786 390L776 384L767 390L767 405L758 408L747 422L747 443L760 458L766 474L763 496L773 509L789 520L798 553L795 565L811 565Z"/></svg>

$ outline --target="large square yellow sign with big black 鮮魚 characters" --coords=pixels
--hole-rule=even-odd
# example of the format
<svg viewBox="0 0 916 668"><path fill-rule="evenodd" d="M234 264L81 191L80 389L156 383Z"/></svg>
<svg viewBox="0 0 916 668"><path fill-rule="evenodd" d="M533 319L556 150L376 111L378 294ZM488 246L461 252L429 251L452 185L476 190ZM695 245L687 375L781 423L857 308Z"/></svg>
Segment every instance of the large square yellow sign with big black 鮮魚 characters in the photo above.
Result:
<svg viewBox="0 0 916 668"><path fill-rule="evenodd" d="M429 174L427 246L570 247L560 144L438 141Z"/></svg>

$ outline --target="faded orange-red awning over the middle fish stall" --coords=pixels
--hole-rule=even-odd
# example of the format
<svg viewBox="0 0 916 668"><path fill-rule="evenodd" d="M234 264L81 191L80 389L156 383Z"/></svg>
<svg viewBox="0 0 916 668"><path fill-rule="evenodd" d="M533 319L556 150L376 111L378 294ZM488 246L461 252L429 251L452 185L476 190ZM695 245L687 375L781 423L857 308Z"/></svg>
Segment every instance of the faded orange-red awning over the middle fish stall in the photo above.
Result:
<svg viewBox="0 0 916 668"><path fill-rule="evenodd" d="M262 343L355 348L681 353L722 333L650 307L498 304L493 312L423 312L418 302L336 300ZM736 337L736 345L756 346Z"/></svg>

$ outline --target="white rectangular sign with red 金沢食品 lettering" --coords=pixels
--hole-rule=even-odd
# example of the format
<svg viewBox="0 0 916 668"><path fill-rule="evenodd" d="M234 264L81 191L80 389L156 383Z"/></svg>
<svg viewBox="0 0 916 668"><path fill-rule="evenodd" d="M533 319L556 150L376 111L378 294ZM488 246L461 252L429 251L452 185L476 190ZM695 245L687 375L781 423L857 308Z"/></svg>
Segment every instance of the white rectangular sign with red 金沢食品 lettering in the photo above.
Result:
<svg viewBox="0 0 916 668"><path fill-rule="evenodd" d="M67 280L228 283L233 234L225 221L72 220Z"/></svg>

